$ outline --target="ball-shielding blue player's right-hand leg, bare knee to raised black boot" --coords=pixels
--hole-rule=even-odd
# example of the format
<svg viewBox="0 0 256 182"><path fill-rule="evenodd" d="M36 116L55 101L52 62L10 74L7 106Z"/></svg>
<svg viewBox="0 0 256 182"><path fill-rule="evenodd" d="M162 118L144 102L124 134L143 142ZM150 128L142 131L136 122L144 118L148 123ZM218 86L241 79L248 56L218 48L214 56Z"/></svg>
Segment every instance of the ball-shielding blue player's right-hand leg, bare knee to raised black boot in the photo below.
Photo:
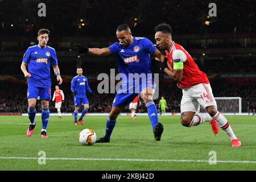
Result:
<svg viewBox="0 0 256 182"><path fill-rule="evenodd" d="M142 90L140 97L145 102L147 107L148 117L150 119L153 133L156 141L160 141L163 133L163 125L158 122L158 110L156 109L155 103L153 101L155 90L151 87L146 87Z"/></svg>

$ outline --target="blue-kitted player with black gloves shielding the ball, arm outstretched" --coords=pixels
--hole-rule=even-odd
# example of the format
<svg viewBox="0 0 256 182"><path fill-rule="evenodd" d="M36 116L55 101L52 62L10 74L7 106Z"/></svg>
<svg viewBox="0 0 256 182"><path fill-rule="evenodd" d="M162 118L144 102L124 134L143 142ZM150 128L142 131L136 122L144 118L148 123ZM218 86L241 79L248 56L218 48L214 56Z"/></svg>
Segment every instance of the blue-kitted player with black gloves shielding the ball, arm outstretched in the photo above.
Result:
<svg viewBox="0 0 256 182"><path fill-rule="evenodd" d="M160 140L163 133L163 125L158 122L158 111L153 101L154 96L154 79L150 76L141 77L144 82L133 82L129 79L129 73L135 75L150 75L151 61L150 55L158 57L159 60L164 60L164 56L156 49L154 44L147 38L140 38L131 35L130 27L127 24L121 24L117 27L117 39L119 42L112 44L105 48L88 48L77 45L75 51L77 53L88 53L89 55L109 56L115 55L117 57L118 72L125 75L126 78L121 80L121 88L118 90L114 101L112 110L106 121L105 136L98 139L96 143L110 142L110 135L114 129L117 117L121 111L138 96L142 98L147 107L148 118L150 119L155 140ZM134 78L134 77L133 77ZM135 80L139 77L135 77ZM132 86L130 92L127 85Z"/></svg>

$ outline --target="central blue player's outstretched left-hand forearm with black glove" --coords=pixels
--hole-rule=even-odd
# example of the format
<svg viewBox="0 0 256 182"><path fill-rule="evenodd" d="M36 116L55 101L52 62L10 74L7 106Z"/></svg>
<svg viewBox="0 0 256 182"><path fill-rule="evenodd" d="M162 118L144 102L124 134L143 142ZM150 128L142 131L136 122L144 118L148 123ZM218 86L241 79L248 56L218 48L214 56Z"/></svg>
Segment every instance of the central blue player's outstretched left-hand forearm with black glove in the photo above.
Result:
<svg viewBox="0 0 256 182"><path fill-rule="evenodd" d="M88 48L81 45L77 45L74 49L74 52L76 53L88 53L89 55L95 55L95 56L109 56L111 55L110 49L105 48Z"/></svg>

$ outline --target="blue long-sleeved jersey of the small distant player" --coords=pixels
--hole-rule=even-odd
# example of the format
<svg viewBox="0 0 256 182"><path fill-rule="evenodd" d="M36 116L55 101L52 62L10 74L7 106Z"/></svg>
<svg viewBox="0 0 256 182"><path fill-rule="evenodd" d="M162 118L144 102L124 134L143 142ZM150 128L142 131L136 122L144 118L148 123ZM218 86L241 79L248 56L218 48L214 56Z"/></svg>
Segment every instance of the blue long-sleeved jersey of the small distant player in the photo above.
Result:
<svg viewBox="0 0 256 182"><path fill-rule="evenodd" d="M83 98L86 97L86 90L89 93L92 93L90 90L88 79L85 76L75 76L71 81L71 91L77 92L75 98Z"/></svg>

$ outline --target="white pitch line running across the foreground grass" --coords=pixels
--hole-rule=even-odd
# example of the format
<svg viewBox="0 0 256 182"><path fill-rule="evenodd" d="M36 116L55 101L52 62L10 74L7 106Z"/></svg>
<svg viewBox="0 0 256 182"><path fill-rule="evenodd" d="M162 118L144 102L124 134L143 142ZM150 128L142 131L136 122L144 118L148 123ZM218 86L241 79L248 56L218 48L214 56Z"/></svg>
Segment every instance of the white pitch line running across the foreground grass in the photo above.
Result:
<svg viewBox="0 0 256 182"><path fill-rule="evenodd" d="M26 157L1 157L0 159L20 159L20 160L38 160L39 158L26 158ZM40 158L42 159L42 158ZM104 158L45 158L46 160L102 160L102 161L128 161L128 162L185 162L185 163L209 163L209 160L186 160L186 159L104 159ZM210 161L216 163L256 163L250 160L216 160Z"/></svg>

